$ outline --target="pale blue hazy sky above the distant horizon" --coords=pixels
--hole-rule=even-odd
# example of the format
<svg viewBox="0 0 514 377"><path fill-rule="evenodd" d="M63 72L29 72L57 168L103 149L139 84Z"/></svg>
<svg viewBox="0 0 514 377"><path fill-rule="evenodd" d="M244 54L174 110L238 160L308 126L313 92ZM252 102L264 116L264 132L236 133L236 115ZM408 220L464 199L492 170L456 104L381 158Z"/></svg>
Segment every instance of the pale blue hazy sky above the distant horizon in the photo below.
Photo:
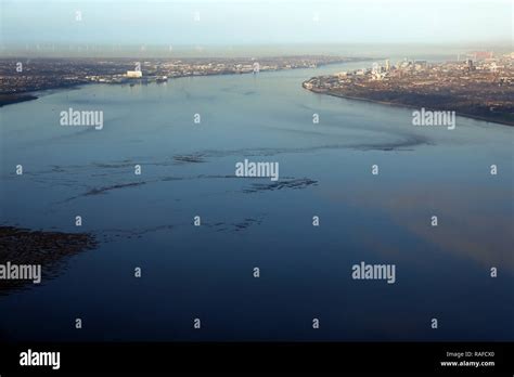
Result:
<svg viewBox="0 0 514 377"><path fill-rule="evenodd" d="M512 43L513 38L512 0L0 0L0 3L4 46Z"/></svg>

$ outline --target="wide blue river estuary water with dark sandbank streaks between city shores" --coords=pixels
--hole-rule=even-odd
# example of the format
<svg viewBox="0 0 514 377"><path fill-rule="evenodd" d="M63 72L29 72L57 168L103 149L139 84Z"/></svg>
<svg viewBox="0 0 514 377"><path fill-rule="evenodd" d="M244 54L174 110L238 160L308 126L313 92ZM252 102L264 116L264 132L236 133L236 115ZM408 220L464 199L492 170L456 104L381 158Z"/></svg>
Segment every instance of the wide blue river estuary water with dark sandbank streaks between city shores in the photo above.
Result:
<svg viewBox="0 0 514 377"><path fill-rule="evenodd" d="M514 340L513 128L414 127L412 109L301 88L362 65L91 84L2 107L0 225L91 232L99 246L0 296L0 337ZM68 108L103 110L103 129L60 126ZM234 177L245 158L279 162L279 181ZM396 282L354 280L361 261L395 264Z"/></svg>

